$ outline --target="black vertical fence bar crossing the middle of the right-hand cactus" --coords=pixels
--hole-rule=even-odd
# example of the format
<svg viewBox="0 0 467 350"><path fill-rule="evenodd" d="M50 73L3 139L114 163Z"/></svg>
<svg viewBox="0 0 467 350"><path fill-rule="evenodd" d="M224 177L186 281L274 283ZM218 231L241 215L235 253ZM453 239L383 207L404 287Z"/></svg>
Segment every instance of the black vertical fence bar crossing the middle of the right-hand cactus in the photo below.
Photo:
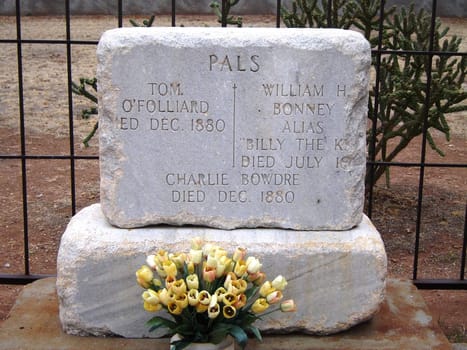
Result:
<svg viewBox="0 0 467 350"><path fill-rule="evenodd" d="M435 36L435 25L436 25L436 8L437 1L433 0L431 8L431 27L430 27L430 42L428 47L428 63L426 68L426 91L425 91L425 106L423 115L423 131L422 131L422 151L420 154L420 174L418 182L418 200L417 200L417 220L415 226L415 252L413 262L413 279L417 279L418 274L418 251L420 249L420 230L422 222L422 204L423 204L423 185L425 181L425 159L426 159L426 143L427 143L427 130L428 130L428 113L430 108L431 99L431 74L432 74L432 63L433 63L433 46Z"/></svg>

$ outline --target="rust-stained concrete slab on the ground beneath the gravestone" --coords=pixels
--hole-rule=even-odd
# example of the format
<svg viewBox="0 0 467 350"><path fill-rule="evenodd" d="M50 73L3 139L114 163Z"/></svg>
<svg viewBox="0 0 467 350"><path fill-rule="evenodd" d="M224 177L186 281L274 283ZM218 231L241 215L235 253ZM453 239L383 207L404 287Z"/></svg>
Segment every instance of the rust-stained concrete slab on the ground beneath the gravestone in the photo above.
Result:
<svg viewBox="0 0 467 350"><path fill-rule="evenodd" d="M369 321L336 335L266 335L250 339L246 350L451 350L437 320L410 281L388 279L386 299ZM422 316L422 317L421 317ZM27 285L0 325L0 349L168 349L169 339L75 337L61 331L55 279ZM453 344L465 350L466 345ZM239 350L239 347L237 347Z"/></svg>

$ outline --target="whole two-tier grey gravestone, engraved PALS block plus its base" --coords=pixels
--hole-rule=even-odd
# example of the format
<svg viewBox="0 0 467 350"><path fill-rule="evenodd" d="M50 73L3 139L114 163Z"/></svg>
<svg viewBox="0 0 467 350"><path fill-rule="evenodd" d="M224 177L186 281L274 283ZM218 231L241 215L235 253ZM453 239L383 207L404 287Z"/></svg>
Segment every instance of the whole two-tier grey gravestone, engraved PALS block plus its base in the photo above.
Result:
<svg viewBox="0 0 467 350"><path fill-rule="evenodd" d="M134 271L196 236L288 278L298 311L262 330L330 334L378 311L386 254L362 213L363 36L127 28L103 35L98 61L101 204L62 237L67 333L157 336Z"/></svg>

